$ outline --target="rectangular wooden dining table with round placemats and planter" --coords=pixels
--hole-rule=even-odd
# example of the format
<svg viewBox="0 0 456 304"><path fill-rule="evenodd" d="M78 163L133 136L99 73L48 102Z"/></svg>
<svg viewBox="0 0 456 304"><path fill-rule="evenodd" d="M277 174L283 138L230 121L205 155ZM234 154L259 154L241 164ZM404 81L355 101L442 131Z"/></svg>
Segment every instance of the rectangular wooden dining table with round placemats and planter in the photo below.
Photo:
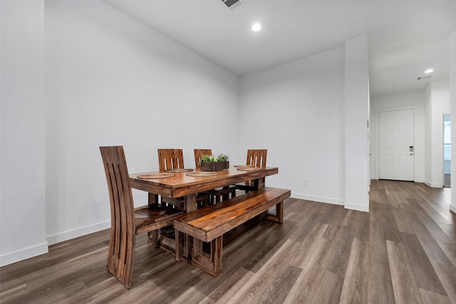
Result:
<svg viewBox="0 0 456 304"><path fill-rule="evenodd" d="M195 170L192 172L201 172ZM170 197L177 199L184 197L183 211L190 212L197 209L197 194L219 187L227 187L229 185L238 184L247 181L254 181L254 187L259 189L264 187L263 178L278 174L277 167L264 167L261 169L249 169L230 167L227 170L217 171L217 175L193 177L187 175L192 172L172 172L173 177L143 179L138 176L145 174L153 174L158 172L142 172L130 174L130 187L139 189L149 193L149 204L158 202L158 196ZM184 245L184 258L190 258L191 239L186 239ZM167 249L170 248L170 243L163 243Z"/></svg>

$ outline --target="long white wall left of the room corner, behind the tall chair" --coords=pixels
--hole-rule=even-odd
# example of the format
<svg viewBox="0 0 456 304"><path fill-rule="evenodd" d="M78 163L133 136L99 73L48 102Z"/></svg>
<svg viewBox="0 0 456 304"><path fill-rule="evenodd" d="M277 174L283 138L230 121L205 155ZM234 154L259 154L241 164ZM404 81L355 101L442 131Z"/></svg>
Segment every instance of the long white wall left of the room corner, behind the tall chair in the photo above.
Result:
<svg viewBox="0 0 456 304"><path fill-rule="evenodd" d="M157 169L157 148L239 161L237 76L103 1L1 6L1 265L110 226L101 145L124 145L130 172Z"/></svg>

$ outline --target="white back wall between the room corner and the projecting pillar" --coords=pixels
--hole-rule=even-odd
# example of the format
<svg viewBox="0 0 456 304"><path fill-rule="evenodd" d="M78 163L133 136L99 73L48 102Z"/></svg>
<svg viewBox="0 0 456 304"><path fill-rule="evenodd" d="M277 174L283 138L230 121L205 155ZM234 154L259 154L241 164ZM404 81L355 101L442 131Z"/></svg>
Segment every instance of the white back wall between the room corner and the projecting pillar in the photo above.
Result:
<svg viewBox="0 0 456 304"><path fill-rule="evenodd" d="M239 154L268 149L267 184L344 204L343 68L336 48L241 78Z"/></svg>

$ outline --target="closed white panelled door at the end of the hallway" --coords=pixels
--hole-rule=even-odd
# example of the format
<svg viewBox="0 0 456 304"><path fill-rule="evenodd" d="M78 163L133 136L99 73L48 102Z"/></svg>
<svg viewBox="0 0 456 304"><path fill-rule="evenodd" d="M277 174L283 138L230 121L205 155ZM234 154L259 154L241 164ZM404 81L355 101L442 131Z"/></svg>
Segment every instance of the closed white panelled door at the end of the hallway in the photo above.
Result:
<svg viewBox="0 0 456 304"><path fill-rule="evenodd" d="M378 113L378 177L413 181L415 144L413 109Z"/></svg>

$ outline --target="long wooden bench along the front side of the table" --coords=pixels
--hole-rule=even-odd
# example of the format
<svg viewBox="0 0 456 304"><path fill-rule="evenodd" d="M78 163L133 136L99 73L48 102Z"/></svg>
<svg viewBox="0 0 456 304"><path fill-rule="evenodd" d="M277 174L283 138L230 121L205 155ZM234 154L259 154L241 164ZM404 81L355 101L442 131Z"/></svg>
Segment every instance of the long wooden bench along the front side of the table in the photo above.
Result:
<svg viewBox="0 0 456 304"><path fill-rule="evenodd" d="M223 234L263 213L264 219L283 223L283 201L290 195L290 190L266 187L177 216L176 261L182 261L182 233L193 236L192 263L218 276L222 272ZM268 209L274 205L276 215L269 214ZM202 241L210 242L210 253L202 250Z"/></svg>

